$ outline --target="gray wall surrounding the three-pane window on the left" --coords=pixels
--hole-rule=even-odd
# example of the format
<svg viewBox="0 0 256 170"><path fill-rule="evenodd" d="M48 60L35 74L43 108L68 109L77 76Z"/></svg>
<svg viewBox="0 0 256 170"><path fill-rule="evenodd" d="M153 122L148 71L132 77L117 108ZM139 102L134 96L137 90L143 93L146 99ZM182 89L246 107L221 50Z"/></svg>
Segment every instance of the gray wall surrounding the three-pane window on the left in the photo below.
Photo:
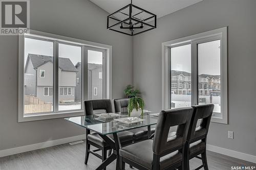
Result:
<svg viewBox="0 0 256 170"><path fill-rule="evenodd" d="M122 97L132 83L132 37L106 30L108 13L87 0L30 0L30 14L33 30L113 45L113 98ZM0 150L84 134L62 118L17 123L18 37L0 44Z"/></svg>

